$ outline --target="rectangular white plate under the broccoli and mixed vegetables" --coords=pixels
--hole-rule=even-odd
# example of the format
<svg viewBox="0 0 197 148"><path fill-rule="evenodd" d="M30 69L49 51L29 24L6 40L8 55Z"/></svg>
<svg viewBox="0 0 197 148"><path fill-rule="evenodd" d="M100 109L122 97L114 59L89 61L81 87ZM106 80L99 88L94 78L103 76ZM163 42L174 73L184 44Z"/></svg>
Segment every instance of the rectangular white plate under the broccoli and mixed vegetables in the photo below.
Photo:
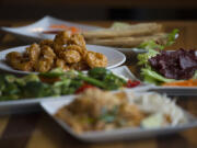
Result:
<svg viewBox="0 0 197 148"><path fill-rule="evenodd" d="M130 72L126 66L117 67L111 69L116 75L121 75L127 79L137 80L136 77ZM144 87L144 89L148 89ZM68 96L68 95L67 95ZM40 101L51 101L51 100L61 100L67 99L67 96L48 96L48 98L38 98L38 99L21 99L15 101L0 101L0 114L5 113L19 113L19 112L32 112L39 110L38 103Z"/></svg>

